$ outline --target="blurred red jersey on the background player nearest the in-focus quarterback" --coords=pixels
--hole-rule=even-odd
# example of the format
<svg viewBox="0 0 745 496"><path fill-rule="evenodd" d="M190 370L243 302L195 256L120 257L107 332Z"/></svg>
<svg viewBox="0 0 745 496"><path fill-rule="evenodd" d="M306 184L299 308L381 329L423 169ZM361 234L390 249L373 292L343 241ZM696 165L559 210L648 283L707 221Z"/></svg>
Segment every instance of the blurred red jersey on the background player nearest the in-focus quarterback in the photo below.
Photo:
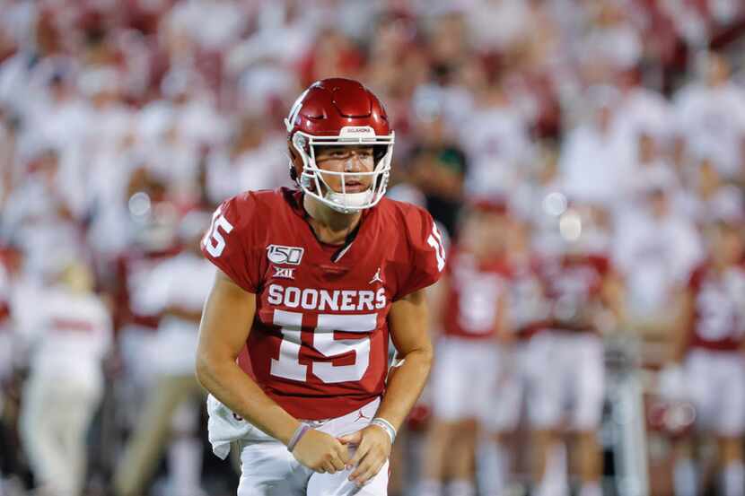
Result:
<svg viewBox="0 0 745 496"><path fill-rule="evenodd" d="M444 334L467 339L493 337L499 300L504 298L509 279L507 266L499 260L479 264L473 255L453 250L446 273Z"/></svg>

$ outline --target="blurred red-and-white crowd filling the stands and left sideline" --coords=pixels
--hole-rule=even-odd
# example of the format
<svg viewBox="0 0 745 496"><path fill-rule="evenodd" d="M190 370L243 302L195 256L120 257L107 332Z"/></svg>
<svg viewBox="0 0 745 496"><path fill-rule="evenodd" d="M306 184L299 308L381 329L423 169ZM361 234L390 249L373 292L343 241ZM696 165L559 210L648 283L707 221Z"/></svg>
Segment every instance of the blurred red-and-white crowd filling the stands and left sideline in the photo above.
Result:
<svg viewBox="0 0 745 496"><path fill-rule="evenodd" d="M662 367L709 228L745 227L744 20L740 0L0 0L0 494L234 491L199 434L198 240L223 199L290 184L282 119L322 77L384 102L390 196L456 245L486 199L530 257L601 253L604 330Z"/></svg>

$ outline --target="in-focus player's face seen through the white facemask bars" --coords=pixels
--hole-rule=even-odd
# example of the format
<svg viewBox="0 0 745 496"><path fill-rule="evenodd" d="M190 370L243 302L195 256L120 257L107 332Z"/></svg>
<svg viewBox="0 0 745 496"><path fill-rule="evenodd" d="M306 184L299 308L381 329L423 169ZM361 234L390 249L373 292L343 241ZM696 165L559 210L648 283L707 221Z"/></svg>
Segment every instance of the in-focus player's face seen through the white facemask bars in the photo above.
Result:
<svg viewBox="0 0 745 496"><path fill-rule="evenodd" d="M373 172L375 169L372 146L319 146L316 149L316 164L324 182L337 193L362 193L373 185L372 174L355 175L355 172ZM346 174L324 174L323 170Z"/></svg>

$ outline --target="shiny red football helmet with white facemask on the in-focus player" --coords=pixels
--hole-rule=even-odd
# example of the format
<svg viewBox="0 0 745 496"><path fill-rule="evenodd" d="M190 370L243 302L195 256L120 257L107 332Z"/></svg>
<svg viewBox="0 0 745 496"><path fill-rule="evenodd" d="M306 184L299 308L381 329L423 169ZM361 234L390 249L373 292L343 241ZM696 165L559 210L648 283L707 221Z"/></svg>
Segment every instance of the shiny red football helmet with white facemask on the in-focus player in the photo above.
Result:
<svg viewBox="0 0 745 496"><path fill-rule="evenodd" d="M290 176L306 195L342 213L371 208L385 195L393 155L393 132L381 101L362 84L343 78L312 83L295 100L285 119L290 150ZM342 191L329 187L316 165L314 145L373 146L372 172L332 172L341 177ZM346 193L345 175L372 176L372 186L360 193ZM324 193L321 184L325 186Z"/></svg>

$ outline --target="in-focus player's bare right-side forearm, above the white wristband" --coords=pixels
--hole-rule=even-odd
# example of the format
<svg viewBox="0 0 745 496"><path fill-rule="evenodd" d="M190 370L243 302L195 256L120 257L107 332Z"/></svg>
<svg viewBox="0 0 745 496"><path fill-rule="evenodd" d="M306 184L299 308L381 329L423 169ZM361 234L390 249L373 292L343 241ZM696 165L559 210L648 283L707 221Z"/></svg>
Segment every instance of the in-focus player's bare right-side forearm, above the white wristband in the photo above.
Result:
<svg viewBox="0 0 745 496"><path fill-rule="evenodd" d="M432 368L432 348L408 352L402 358L404 362L390 372L381 407L376 413L393 424L397 431L425 387Z"/></svg>

